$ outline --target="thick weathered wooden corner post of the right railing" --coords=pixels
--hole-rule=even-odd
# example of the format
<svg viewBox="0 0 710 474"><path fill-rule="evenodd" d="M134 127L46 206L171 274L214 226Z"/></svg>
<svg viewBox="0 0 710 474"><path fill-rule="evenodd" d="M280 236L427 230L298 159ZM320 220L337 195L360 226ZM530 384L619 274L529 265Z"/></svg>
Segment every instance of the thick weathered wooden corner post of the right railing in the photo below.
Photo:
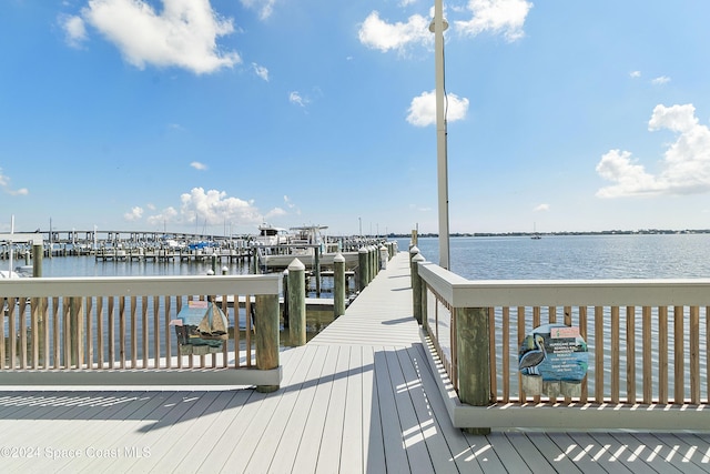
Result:
<svg viewBox="0 0 710 474"><path fill-rule="evenodd" d="M456 307L458 397L474 406L490 405L488 310ZM467 427L470 434L489 434L489 427Z"/></svg>

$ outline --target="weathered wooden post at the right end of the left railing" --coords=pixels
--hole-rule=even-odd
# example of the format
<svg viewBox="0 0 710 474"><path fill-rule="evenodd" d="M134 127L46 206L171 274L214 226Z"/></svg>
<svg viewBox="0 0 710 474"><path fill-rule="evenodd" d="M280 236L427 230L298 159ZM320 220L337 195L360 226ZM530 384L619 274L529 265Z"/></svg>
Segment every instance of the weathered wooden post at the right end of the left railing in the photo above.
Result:
<svg viewBox="0 0 710 474"><path fill-rule="evenodd" d="M257 294L256 297L256 369L268 371L278 367L278 295ZM256 391L270 393L278 385L256 385Z"/></svg>

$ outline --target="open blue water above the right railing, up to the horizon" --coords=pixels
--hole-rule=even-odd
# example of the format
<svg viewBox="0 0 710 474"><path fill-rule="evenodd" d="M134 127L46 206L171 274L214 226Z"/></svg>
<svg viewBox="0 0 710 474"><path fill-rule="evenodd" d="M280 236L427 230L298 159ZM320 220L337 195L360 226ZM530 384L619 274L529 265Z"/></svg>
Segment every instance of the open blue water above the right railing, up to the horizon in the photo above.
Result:
<svg viewBox="0 0 710 474"><path fill-rule="evenodd" d="M438 239L417 246L438 263ZM452 238L449 250L470 280L710 278L710 234Z"/></svg>

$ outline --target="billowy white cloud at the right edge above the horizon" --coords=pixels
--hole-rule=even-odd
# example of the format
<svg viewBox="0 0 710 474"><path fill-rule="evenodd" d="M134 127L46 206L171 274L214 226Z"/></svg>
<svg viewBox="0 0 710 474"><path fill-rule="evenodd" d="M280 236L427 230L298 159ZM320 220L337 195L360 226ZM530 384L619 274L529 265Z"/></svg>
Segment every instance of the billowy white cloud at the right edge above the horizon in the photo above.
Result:
<svg viewBox="0 0 710 474"><path fill-rule="evenodd" d="M599 198L643 194L698 194L710 192L710 129L698 123L692 104L657 105L649 130L678 134L670 143L658 175L648 173L628 151L610 150L597 164L597 173L615 184L600 189Z"/></svg>

